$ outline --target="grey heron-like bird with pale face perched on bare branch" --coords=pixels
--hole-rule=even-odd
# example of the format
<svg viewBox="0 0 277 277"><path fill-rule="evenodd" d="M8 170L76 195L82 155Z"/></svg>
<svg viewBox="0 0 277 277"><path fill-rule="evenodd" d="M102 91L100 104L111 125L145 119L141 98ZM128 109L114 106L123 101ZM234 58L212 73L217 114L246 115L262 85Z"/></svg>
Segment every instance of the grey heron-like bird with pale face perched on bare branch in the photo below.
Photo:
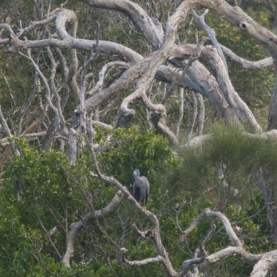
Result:
<svg viewBox="0 0 277 277"><path fill-rule="evenodd" d="M134 199L140 204L147 204L148 196L150 192L150 184L146 177L139 176L139 170L134 170Z"/></svg>

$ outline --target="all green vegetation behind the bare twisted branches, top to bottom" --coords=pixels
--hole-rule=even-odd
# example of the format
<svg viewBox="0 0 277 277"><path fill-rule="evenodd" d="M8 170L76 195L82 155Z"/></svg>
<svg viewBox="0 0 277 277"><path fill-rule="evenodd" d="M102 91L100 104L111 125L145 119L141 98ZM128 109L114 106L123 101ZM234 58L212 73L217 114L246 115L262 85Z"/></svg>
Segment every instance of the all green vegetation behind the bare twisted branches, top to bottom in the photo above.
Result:
<svg viewBox="0 0 277 277"><path fill-rule="evenodd" d="M152 12L145 1L134 2ZM154 1L156 15L161 17L163 24L176 8L177 1L175 2ZM260 24L271 30L276 28L276 10L272 9L269 3L271 1L240 2L241 7ZM55 1L55 6L60 6L61 3L62 1ZM130 21L119 20L123 15L87 8L73 0L69 1L66 8L75 10L78 15L78 37L94 39L96 21L100 21L101 39L119 42L141 55L152 52L152 48ZM19 15L26 22L37 20L32 1L1 0L0 15L8 10L11 24L15 26L19 24ZM190 24L180 28L179 40L195 43L195 35L202 37L204 31L191 17L188 22ZM248 60L260 60L269 54L238 28L212 13L206 17L206 23L215 29L220 43ZM43 52L39 57L42 60L46 59ZM81 52L78 55L84 61L88 54ZM233 62L227 62L235 89L265 129L274 71L272 68L260 69L249 75ZM94 62L94 73L105 63L103 57ZM47 73L48 67L45 66L43 71ZM110 71L108 76L115 72ZM97 74L94 75L91 87L98 81ZM10 54L1 53L0 102L10 125L18 120L18 108L28 98L33 76L34 72L26 59L19 55L11 58ZM154 94L166 88L163 84L154 82L152 92ZM127 95L129 91L124 93ZM190 91L185 91L184 97L186 109L181 123L181 136L186 138L193 111L193 96ZM68 114L72 114L75 107L73 97L71 98L65 108ZM32 105L36 107L38 103L39 97ZM188 228L207 207L223 211L233 226L240 226L240 238L247 251L269 251L271 234L267 210L260 190L256 187L253 171L264 168L267 178L275 184L276 142L249 137L239 127L226 127L224 123L218 123L215 109L205 100L205 133L213 136L201 149L193 150L184 145L173 148L150 125L144 124L148 115L141 104L134 105L141 113L125 129L103 130L96 127L93 142L98 143L100 148L108 148L110 141L115 142L109 151L99 152L98 163L101 172L115 177L131 192L130 184L135 168L139 168L141 175L148 177L151 188L147 208L159 218L163 244L174 267L181 270L182 262L191 256L190 249L194 251L207 235L210 223L204 220L199 224L188 237L188 247L179 241L181 230L178 224L183 230ZM167 105L167 123L173 126L179 111L179 98L172 98ZM34 109L34 114L26 118L25 127L29 125L30 118L37 116L38 110ZM107 113L107 123L113 123L115 114L116 110ZM197 125L193 130L193 134L196 133ZM21 156L10 157L5 164L1 164L4 173L0 193L0 276L163 276L161 265L156 263L140 267L127 267L118 263L119 247L129 250L129 260L157 256L152 243L139 238L132 229L134 223L143 230L150 228L149 220L125 199L114 213L104 219L91 221L80 233L72 269L67 269L53 244L62 256L66 247L65 233L70 224L79 221L85 213L100 210L109 204L116 188L90 176L92 166L88 150L84 150L78 162L70 166L65 155L59 151L59 145L53 145L50 152L44 152L43 139L35 143L17 139L16 143ZM180 144L184 143L186 139ZM1 149L1 153L3 151ZM238 196L236 190L242 193ZM219 221L215 224L217 233L207 246L209 253L230 244L222 224ZM57 233L49 235L48 232L54 226L58 228ZM245 265L240 258L232 256L206 266L203 272L205 276L249 276L251 267Z"/></svg>

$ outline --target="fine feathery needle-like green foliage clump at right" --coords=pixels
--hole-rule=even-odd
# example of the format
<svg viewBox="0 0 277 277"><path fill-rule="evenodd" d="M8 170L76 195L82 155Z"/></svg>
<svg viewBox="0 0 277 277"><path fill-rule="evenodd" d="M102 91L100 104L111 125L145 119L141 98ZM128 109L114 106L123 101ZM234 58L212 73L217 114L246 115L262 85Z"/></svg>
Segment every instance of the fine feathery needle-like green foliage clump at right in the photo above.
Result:
<svg viewBox="0 0 277 277"><path fill-rule="evenodd" d="M220 208L226 201L235 201L235 190L245 191L242 197L251 197L249 192L256 181L253 172L259 168L276 178L274 141L258 135L249 137L235 125L213 125L210 133L211 138L201 148L181 150L184 158L175 175L178 191L184 190L192 197L206 191Z"/></svg>

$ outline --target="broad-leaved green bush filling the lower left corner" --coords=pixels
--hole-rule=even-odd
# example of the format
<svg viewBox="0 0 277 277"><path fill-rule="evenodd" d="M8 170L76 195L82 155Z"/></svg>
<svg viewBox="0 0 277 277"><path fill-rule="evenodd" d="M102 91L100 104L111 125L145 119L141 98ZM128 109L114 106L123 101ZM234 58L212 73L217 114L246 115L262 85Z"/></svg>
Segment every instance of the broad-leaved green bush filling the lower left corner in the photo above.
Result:
<svg viewBox="0 0 277 277"><path fill-rule="evenodd" d="M78 165L69 166L60 152L40 152L21 140L17 144L21 156L15 156L6 168L0 195L0 255L5 257L0 268L6 269L4 276L52 276L62 264L57 263L59 258L44 229L58 226L53 241L64 253L62 229L80 220L87 208L82 191L93 190L100 183L83 178L82 188L75 181L73 173L86 169L82 161L77 169Z"/></svg>

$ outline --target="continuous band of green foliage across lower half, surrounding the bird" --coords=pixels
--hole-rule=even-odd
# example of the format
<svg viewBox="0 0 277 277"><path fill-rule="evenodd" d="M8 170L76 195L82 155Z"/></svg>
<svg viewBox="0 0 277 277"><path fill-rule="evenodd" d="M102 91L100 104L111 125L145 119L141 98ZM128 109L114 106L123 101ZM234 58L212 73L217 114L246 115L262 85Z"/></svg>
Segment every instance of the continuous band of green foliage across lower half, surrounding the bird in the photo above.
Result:
<svg viewBox="0 0 277 277"><path fill-rule="evenodd" d="M246 249L251 253L268 250L266 218L252 216L262 210L264 204L258 189L253 187L253 180L249 180L252 178L251 172L260 166L275 176L276 146L270 140L249 138L234 126L217 125L211 133L213 136L202 148L183 150L181 162L172 157L166 139L155 132L141 132L139 127L112 132L97 129L95 136L102 150L104 147L107 149L111 141L116 142L116 146L109 151L98 152L102 172L116 177L125 186L132 182L134 168L139 168L150 179L148 208L159 218L163 244L176 269L190 258L188 251L178 243L181 233L177 228L175 209L179 209L182 204L184 209L179 214L179 225L185 230L204 208L220 207L222 199L228 199L226 216L231 222L241 222L239 226L242 233L247 234L244 239ZM66 269L60 263L39 219L46 230L59 226L53 242L60 253L64 253L65 233L62 228L80 220L91 209L84 200L84 191L93 195L93 208L100 209L110 202L116 188L89 177L91 157L87 151L82 152L78 163L69 166L60 152L41 152L29 148L21 140L17 141L17 145L21 156L15 156L8 164L4 189L0 194L0 235L3 238L0 255L4 257L0 260L0 273L3 276L163 276L161 265L156 263L126 267L116 262L116 248L111 240L129 249L129 260L157 256L152 243L138 240L131 229L134 223L141 229L150 228L150 222L125 200L115 213L91 222L78 235L75 258L71 260L72 269ZM223 193L217 174L218 166L222 163L224 177L230 188ZM174 172L174 178L170 172ZM247 193L240 199L234 199L232 189L241 190L245 184L249 184ZM213 199L203 195L204 190L211 185L221 190L221 193L215 190ZM240 213L236 210L237 204L243 206ZM247 217L248 220L244 220ZM222 227L218 221L215 224L217 229ZM209 226L209 220L203 220L190 233L190 249L199 246ZM229 244L226 233L218 233L208 244L207 251L213 253ZM82 257L88 262L87 265L80 265ZM232 262L236 262L238 267L229 271ZM229 272L229 276L247 276L251 268L231 257L206 270L224 270ZM240 272L245 275L240 275Z"/></svg>

